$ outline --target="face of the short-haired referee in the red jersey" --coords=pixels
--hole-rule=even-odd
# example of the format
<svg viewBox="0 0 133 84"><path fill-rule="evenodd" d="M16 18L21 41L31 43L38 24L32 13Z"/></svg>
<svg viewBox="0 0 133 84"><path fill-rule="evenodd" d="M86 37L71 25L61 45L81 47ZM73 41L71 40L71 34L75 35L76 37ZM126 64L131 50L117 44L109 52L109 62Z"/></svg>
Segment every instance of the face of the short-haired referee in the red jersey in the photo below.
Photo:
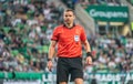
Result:
<svg viewBox="0 0 133 84"><path fill-rule="evenodd" d="M75 17L72 11L66 11L63 14L64 22L68 24L73 23L74 18Z"/></svg>

